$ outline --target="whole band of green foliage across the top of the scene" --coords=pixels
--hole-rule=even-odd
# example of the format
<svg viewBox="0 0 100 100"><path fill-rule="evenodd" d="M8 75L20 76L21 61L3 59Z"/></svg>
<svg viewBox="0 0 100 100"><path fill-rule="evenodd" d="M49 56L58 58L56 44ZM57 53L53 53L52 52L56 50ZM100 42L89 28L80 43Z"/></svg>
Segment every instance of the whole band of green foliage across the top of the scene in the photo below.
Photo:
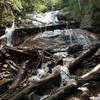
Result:
<svg viewBox="0 0 100 100"><path fill-rule="evenodd" d="M94 8L100 9L100 0L0 0L0 23L5 25L6 22L11 22L14 18L12 11L40 13L64 9L80 15Z"/></svg>

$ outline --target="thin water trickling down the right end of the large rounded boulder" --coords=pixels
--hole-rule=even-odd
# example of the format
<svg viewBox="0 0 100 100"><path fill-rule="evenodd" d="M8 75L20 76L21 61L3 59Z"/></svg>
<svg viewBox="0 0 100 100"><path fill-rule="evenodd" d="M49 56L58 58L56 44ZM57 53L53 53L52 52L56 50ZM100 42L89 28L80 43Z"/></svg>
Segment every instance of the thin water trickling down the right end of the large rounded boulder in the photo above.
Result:
<svg viewBox="0 0 100 100"><path fill-rule="evenodd" d="M92 34L87 35L86 31L80 29L68 29L65 35L69 37L69 44L82 44L84 49L88 49L92 45L92 42L97 40ZM66 41L68 41L68 39Z"/></svg>

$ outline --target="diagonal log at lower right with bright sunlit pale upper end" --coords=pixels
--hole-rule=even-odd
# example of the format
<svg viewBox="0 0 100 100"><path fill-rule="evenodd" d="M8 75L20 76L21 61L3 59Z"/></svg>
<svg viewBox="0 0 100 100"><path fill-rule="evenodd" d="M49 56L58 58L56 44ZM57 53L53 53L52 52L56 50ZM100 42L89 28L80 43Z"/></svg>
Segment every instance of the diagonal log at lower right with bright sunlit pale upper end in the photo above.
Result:
<svg viewBox="0 0 100 100"><path fill-rule="evenodd" d="M54 95L51 95L46 100L62 100L64 96L69 96L71 93L75 92L78 87L86 83L90 79L90 76L93 76L91 78L94 78L95 77L94 74L96 74L97 71L99 70L100 70L100 64L98 64L90 72L86 73L85 75L82 75L81 80L77 80L75 83L72 83L69 86L64 86L63 88L57 91Z"/></svg>

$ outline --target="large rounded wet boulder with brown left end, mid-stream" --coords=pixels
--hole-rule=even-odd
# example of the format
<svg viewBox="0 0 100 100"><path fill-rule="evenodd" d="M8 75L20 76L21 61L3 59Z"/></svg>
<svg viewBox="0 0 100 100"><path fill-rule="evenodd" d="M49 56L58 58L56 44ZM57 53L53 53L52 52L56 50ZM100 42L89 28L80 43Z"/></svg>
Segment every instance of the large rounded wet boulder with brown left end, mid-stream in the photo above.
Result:
<svg viewBox="0 0 100 100"><path fill-rule="evenodd" d="M59 30L58 33L57 31L39 33L37 36L27 39L21 46L62 51L71 44L80 44L83 49L88 49L96 41L96 37L86 30L68 29Z"/></svg>

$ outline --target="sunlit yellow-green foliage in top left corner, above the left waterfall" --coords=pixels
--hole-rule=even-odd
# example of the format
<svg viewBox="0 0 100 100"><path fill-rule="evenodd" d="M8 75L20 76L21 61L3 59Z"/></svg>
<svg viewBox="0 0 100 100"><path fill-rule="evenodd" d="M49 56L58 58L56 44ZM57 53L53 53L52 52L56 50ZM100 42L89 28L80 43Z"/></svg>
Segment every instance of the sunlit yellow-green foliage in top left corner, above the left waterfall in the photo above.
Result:
<svg viewBox="0 0 100 100"><path fill-rule="evenodd" d="M11 23L14 18L13 10L21 11L21 9L20 0L0 0L0 26Z"/></svg>

